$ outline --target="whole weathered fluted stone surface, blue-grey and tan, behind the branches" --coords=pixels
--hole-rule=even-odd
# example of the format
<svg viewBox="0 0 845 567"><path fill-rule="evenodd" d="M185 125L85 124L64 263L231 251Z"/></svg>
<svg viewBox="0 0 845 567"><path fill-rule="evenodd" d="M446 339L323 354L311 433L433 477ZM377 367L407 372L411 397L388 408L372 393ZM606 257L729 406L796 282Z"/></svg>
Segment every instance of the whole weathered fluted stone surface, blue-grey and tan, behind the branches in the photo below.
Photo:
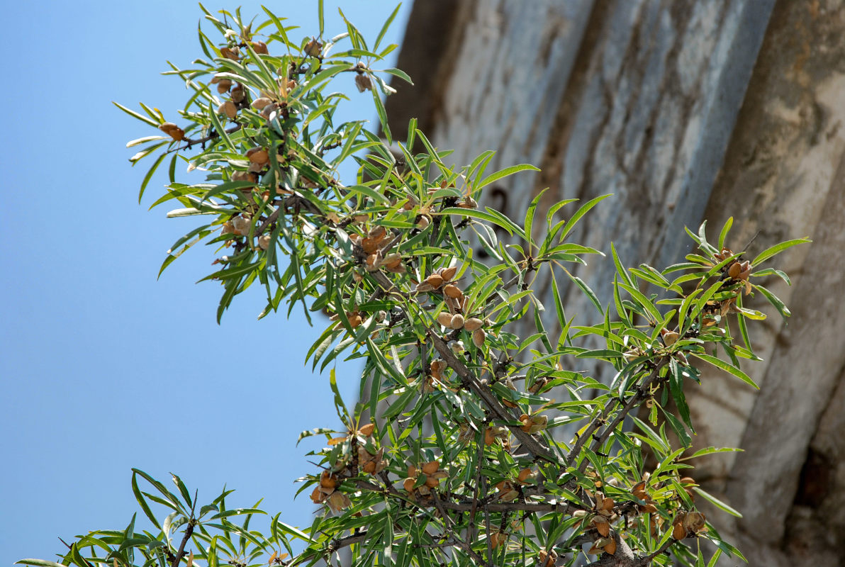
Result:
<svg viewBox="0 0 845 567"><path fill-rule="evenodd" d="M750 564L845 564L845 1L463 7L423 111L432 139L456 164L495 149L491 167L543 168L484 204L520 218L544 187L547 206L614 193L572 240L613 240L629 265L683 259L683 226L702 218L715 235L733 216L734 249L759 232L751 256L815 240L778 259L793 286L766 284L792 308L788 324L768 309L751 326L765 362L744 369L762 390L709 371L690 388L696 444L744 449L702 460L694 476L744 513L708 517ZM611 262L577 273L608 299ZM558 281L568 314L595 316Z"/></svg>

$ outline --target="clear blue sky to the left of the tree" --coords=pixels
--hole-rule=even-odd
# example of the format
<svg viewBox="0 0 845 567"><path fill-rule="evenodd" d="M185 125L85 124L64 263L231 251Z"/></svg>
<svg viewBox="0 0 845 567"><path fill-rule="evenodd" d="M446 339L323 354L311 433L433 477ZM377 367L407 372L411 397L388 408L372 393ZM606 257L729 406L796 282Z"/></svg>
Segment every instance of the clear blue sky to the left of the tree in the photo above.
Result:
<svg viewBox="0 0 845 567"><path fill-rule="evenodd" d="M374 38L395 3L340 4ZM293 36L317 33L315 1L270 4L303 25ZM326 1L327 35L342 31L337 4ZM387 41L401 42L410 7ZM243 14L260 13L243 2ZM111 103L177 116L186 90L160 73L168 59L187 67L201 55L199 8L28 0L3 14L0 564L54 559L57 537L125 527L137 509L133 466L168 483L176 472L201 501L226 483L237 490L230 505L264 498L265 510L310 523L313 506L304 493L294 502L292 481L314 471L303 457L313 445L295 447L297 434L339 426L327 375L303 366L319 329L297 312L257 321L259 289L215 324L221 287L194 284L210 271L209 248L156 281L165 251L196 221L147 210L162 177L138 205L144 163L129 166L137 148L125 143L155 132ZM374 120L349 80L347 116ZM347 395L358 375L357 364L338 367Z"/></svg>

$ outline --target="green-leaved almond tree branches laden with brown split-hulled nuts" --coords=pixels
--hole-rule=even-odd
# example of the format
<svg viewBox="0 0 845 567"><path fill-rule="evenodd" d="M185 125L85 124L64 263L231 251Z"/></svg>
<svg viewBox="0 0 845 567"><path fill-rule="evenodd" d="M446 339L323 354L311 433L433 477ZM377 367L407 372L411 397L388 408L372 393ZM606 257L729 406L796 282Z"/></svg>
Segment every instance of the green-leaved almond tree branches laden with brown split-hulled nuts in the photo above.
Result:
<svg viewBox="0 0 845 567"><path fill-rule="evenodd" d="M730 222L712 242L702 225L687 231L698 252L660 270L626 269L610 244L613 305L603 306L567 270L602 253L567 237L605 197L540 215L538 196L514 221L480 209L477 197L535 167L489 173L492 151L450 165L449 151L414 121L407 139L392 139L385 77L410 78L373 66L395 47L381 40L396 12L372 44L346 19L346 31L327 38L322 13L318 34L296 41L264 12L256 25L239 11L204 10L215 40L200 30L204 57L194 68L172 65L193 93L182 111L168 119L144 104L117 106L155 128L128 144L142 146L133 164L152 158L141 195L167 162L170 183L155 205L175 201L168 215L204 219L161 270L210 244L216 269L204 279L223 286L218 321L255 284L267 298L261 317L282 305L303 308L315 324L326 321L311 313L330 315L306 355L313 368L363 359L361 401L347 406L330 370L339 424L300 435L326 439L317 469L300 479L323 510L311 526L275 515L257 531L249 522L264 511L227 507L231 491L203 503L177 476L172 490L134 470L148 529L133 516L124 530L79 536L60 564L704 565L703 540L716 546L710 564L722 553L742 558L698 510L708 501L737 514L692 472L696 459L731 449L688 453L684 388L701 364L753 384L740 368L756 359L746 322L765 316L744 302L765 297L787 317L760 281L788 276L761 264L807 240L752 258L728 247ZM337 82L372 93L384 139L363 120L333 121L345 98L329 90ZM357 178L341 183L348 160ZM204 180L177 182L186 163ZM499 243L497 231L519 243ZM575 324L557 295L543 306L532 292L541 270L581 287L602 323ZM544 328L546 308L557 329ZM534 334L510 331L523 318ZM584 346L586 337L602 348ZM612 382L578 372L580 358L613 365ZM577 433L560 439L556 428L567 424Z"/></svg>

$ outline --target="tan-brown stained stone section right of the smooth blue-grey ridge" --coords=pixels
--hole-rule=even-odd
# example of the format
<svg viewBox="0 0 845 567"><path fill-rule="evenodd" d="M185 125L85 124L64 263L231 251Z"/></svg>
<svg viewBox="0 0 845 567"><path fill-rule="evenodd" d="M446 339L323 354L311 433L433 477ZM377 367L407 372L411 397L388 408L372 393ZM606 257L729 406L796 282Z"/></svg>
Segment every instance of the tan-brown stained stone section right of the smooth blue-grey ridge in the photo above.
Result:
<svg viewBox="0 0 845 567"><path fill-rule="evenodd" d="M751 564L842 561L831 543L845 541L842 505L833 504L845 499L845 482L837 482L845 454L830 428L838 425L840 437L845 430L837 419L845 412L843 33L841 1L777 4L706 211L714 226L737 219L737 248L759 231L752 252L784 238L814 239L778 260L794 275L792 287L771 281L793 317L784 326L769 310L766 324L752 327L766 361L748 366L760 392L708 373L690 400L701 444L744 449L699 469L744 513L736 523L714 517Z"/></svg>

